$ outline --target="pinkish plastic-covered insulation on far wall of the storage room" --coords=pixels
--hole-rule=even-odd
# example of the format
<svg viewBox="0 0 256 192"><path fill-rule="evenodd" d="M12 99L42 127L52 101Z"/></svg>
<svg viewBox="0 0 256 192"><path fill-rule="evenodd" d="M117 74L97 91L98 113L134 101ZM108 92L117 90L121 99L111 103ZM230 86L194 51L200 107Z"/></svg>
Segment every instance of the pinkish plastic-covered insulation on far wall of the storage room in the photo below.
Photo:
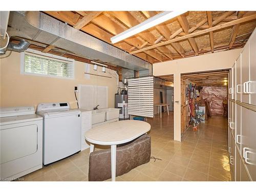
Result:
<svg viewBox="0 0 256 192"><path fill-rule="evenodd" d="M227 100L227 88L207 86L203 87L200 92L200 98L203 103L204 99L209 101L210 111L212 115L223 114L223 101Z"/></svg>

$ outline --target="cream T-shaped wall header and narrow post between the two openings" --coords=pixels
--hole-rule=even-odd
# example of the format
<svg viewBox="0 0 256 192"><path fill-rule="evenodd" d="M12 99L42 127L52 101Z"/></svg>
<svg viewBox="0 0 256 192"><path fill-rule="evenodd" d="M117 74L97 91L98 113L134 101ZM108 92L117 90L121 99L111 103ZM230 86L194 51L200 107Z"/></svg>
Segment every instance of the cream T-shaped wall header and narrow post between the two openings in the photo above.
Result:
<svg viewBox="0 0 256 192"><path fill-rule="evenodd" d="M181 89L180 75L182 73L230 69L242 49L210 53L195 57L155 63L153 75L174 74L174 139L181 141Z"/></svg>

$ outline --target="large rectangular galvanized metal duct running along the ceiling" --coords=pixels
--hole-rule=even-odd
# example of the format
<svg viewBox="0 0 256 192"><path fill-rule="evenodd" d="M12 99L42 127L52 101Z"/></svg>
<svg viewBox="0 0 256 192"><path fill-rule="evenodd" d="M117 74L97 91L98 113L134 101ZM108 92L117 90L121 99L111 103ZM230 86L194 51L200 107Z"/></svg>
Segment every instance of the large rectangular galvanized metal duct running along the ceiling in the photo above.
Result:
<svg viewBox="0 0 256 192"><path fill-rule="evenodd" d="M102 40L79 31L59 20L38 11L10 12L8 33L58 48L66 49L77 56L109 62L135 71L148 71L152 65L126 53ZM29 41L29 40L28 40Z"/></svg>

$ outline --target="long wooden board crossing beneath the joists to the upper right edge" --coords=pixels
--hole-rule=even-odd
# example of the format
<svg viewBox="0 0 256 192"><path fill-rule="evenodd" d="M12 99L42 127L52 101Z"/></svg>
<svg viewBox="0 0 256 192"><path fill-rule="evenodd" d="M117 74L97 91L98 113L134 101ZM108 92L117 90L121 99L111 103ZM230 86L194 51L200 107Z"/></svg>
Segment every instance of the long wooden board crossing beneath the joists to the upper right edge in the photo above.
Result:
<svg viewBox="0 0 256 192"><path fill-rule="evenodd" d="M141 49L141 50L131 52L130 54L140 53L140 52L143 52L145 50L150 50L150 49L154 49L156 47L165 46L165 45L171 44L173 42L177 42L177 41L180 41L180 40L187 39L189 37L195 37L195 36L203 35L205 33L209 33L210 31L216 31L216 30L224 29L224 28L236 25L236 24L249 22L250 20L254 20L254 19L256 19L256 14L249 15L249 16L246 16L246 17L242 17L242 18L239 18L239 19L236 19L236 20L232 20L231 22L220 24L220 25L217 25L217 26L205 29L205 30L196 31L194 33L189 33L187 35L177 37L177 38L174 38L174 39L170 39L170 40L167 40L167 41L164 41L164 42L160 42L159 44L156 44L156 45L149 46L149 47L146 47L146 48Z"/></svg>

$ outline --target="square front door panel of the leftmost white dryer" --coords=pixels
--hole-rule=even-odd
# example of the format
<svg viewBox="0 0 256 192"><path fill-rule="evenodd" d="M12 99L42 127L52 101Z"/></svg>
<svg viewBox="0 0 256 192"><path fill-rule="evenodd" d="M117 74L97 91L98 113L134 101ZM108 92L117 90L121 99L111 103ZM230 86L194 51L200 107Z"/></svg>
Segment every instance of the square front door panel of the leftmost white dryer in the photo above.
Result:
<svg viewBox="0 0 256 192"><path fill-rule="evenodd" d="M6 128L6 129L5 129ZM1 135L1 160L0 163L6 163L18 158L22 158L37 151L37 125L19 125L12 124L0 130Z"/></svg>

